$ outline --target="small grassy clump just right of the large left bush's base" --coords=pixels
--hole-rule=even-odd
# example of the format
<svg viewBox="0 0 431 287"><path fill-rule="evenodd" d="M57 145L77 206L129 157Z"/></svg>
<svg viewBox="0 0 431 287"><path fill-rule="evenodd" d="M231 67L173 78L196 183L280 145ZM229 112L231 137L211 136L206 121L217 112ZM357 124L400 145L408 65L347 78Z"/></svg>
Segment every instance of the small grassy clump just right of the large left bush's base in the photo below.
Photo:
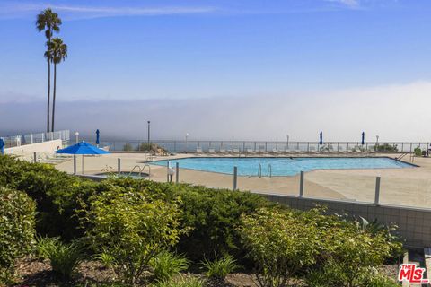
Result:
<svg viewBox="0 0 431 287"><path fill-rule="evenodd" d="M149 265L154 279L158 282L166 282L171 280L173 275L189 268L189 261L185 257L163 250L150 260Z"/></svg>

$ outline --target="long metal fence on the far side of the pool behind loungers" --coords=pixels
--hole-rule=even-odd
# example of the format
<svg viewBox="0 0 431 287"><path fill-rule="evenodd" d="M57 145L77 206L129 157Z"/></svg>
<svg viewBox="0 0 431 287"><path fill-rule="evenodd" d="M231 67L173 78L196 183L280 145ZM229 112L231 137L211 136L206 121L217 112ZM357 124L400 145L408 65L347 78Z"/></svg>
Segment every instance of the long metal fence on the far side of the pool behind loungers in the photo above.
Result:
<svg viewBox="0 0 431 287"><path fill-rule="evenodd" d="M94 143L94 139L86 139ZM101 141L100 146L109 146L110 151L145 151L145 140ZM275 141L177 141L153 140L169 152L414 152L419 148L427 151L426 142L275 142Z"/></svg>

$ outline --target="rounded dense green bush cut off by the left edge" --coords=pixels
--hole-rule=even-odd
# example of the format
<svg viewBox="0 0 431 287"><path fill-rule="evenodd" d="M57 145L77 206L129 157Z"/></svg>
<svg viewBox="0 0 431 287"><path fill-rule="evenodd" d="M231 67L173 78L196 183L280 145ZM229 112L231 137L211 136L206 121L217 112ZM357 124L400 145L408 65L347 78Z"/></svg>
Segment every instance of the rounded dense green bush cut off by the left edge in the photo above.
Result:
<svg viewBox="0 0 431 287"><path fill-rule="evenodd" d="M35 211L25 193L0 187L0 283L13 274L15 260L31 250Z"/></svg>

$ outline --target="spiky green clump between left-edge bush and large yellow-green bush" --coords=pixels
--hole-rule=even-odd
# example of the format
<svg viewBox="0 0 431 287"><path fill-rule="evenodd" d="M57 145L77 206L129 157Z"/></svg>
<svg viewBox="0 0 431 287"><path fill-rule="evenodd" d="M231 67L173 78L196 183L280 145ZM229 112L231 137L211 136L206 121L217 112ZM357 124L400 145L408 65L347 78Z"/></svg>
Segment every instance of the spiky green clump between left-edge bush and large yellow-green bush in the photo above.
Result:
<svg viewBox="0 0 431 287"><path fill-rule="evenodd" d="M63 243L59 238L40 238L38 254L49 260L52 271L63 279L70 279L84 260L84 248L77 242Z"/></svg>

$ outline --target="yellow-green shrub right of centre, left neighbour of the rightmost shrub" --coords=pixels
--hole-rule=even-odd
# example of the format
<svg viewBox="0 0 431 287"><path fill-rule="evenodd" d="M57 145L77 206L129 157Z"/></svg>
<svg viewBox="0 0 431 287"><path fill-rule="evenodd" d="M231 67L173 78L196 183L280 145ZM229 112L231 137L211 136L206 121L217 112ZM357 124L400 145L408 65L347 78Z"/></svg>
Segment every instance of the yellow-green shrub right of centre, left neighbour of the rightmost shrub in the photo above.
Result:
<svg viewBox="0 0 431 287"><path fill-rule="evenodd" d="M257 268L262 287L285 286L301 268L312 265L318 254L315 224L293 213L261 209L242 216L242 240Z"/></svg>

